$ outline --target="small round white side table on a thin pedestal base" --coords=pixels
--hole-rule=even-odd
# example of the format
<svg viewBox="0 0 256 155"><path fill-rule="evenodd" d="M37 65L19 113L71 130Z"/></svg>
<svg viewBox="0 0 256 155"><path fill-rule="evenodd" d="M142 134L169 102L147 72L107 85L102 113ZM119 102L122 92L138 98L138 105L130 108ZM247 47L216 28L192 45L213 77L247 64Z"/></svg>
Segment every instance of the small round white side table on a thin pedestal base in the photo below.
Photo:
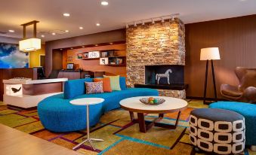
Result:
<svg viewBox="0 0 256 155"><path fill-rule="evenodd" d="M72 105L86 105L86 123L87 123L87 138L85 141L82 141L81 143L77 144L75 147L72 147L72 150L75 150L77 147L84 144L86 141L88 141L91 144L91 147L96 150L94 147L94 144L92 144L92 141L103 141L103 139L96 139L96 138L90 138L90 119L89 119L89 105L96 105L99 103L104 102L104 99L101 98L82 98L82 99L74 99L71 100L70 103Z"/></svg>

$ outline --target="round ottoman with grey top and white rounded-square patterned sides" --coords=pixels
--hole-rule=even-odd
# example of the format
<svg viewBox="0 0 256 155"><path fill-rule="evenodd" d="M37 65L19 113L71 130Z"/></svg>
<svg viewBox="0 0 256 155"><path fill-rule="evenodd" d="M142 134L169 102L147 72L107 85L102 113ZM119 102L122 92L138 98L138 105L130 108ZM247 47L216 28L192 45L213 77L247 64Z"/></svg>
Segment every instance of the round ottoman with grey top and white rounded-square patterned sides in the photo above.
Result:
<svg viewBox="0 0 256 155"><path fill-rule="evenodd" d="M245 148L245 118L224 109L193 110L190 114L190 141L207 152L241 153Z"/></svg>

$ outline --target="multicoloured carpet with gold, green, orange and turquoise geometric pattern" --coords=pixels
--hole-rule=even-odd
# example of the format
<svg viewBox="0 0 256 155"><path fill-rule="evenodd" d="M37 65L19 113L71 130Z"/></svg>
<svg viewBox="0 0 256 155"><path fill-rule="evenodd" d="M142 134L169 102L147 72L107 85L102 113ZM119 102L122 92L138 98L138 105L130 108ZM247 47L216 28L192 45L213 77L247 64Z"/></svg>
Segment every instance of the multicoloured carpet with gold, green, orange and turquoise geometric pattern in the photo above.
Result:
<svg viewBox="0 0 256 155"><path fill-rule="evenodd" d="M188 119L193 108L207 108L201 101L189 101L189 108L182 111L177 129L162 129L153 127L147 133L139 132L138 124L131 123L128 111L117 109L104 114L100 123L91 128L91 137L102 138L102 142L94 142L97 150L92 150L85 143L76 151L82 154L204 154L196 153L190 144ZM156 114L148 114L146 119L153 120ZM165 114L162 123L174 124L177 114ZM86 137L86 131L78 132L50 132L42 126L36 110L23 111L17 108L8 108L0 103L0 123L26 132L30 135L43 138L55 144L72 149ZM245 150L243 154L256 154Z"/></svg>

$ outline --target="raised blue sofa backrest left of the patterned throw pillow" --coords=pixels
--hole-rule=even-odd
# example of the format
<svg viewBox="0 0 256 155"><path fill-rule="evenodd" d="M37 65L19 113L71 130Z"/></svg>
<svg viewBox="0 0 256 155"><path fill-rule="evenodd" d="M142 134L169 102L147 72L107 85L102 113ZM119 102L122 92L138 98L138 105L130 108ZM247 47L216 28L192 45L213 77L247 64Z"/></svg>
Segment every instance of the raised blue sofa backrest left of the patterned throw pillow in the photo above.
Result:
<svg viewBox="0 0 256 155"><path fill-rule="evenodd" d="M93 78L66 81L64 84L64 99L72 99L85 94L85 82L93 82Z"/></svg>

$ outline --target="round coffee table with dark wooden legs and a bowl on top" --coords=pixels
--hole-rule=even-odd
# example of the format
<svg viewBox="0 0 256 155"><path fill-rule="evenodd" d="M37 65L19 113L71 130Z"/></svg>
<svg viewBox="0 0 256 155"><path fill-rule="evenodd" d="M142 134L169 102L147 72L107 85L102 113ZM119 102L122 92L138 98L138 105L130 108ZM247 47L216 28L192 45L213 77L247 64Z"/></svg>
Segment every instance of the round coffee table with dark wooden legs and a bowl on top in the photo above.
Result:
<svg viewBox="0 0 256 155"><path fill-rule="evenodd" d="M176 129L177 123L180 118L180 111L183 111L187 108L187 101L184 99L177 99L172 97L165 96L153 96L154 98L165 99L165 102L161 105L145 105L140 102L141 98L147 98L150 96L138 96L131 97L128 99L123 99L120 101L121 108L130 112L131 121L134 123L139 123L140 132L147 132L152 126L159 126L168 129ZM158 123L159 120L162 120L164 114L177 112L177 120L174 125L168 125L163 123ZM134 112L137 112L137 119L134 119ZM156 118L153 122L147 121L144 119L144 114L159 114L159 117Z"/></svg>

